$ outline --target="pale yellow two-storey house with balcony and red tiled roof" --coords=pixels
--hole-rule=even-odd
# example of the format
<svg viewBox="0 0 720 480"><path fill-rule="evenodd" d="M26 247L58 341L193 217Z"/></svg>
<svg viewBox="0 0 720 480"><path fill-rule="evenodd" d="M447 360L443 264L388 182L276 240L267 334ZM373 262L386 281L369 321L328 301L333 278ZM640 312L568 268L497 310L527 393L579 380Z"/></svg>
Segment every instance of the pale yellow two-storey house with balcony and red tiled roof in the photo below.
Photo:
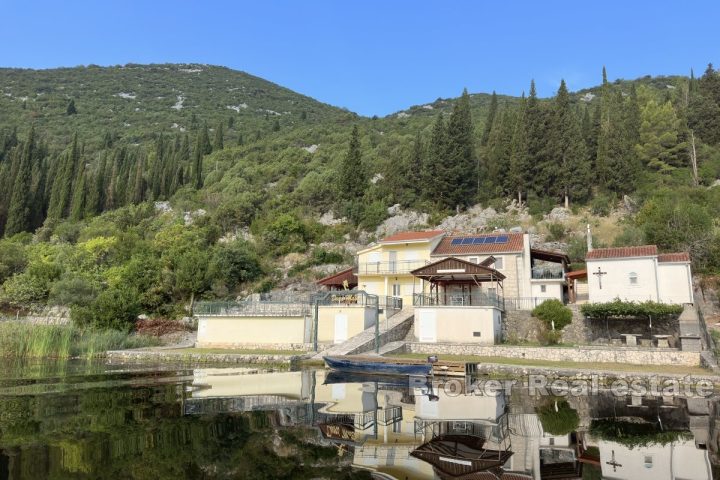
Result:
<svg viewBox="0 0 720 480"><path fill-rule="evenodd" d="M444 236L442 230L402 232L358 252L358 288L379 296L400 297L412 305L419 284L410 273L430 263L430 254Z"/></svg>

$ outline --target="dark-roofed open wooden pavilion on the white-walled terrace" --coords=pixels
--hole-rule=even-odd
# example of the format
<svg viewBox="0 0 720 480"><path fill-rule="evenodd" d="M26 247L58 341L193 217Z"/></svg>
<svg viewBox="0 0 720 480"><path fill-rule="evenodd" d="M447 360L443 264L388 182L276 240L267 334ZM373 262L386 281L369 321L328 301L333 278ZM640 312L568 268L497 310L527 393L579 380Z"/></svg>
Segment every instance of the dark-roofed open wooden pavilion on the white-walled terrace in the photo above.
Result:
<svg viewBox="0 0 720 480"><path fill-rule="evenodd" d="M483 295L488 296L482 291L483 284L488 284L487 288L495 288L498 298L504 296L502 292L505 275L488 266L494 261L493 257L489 257L484 262L477 264L456 257L448 257L417 268L410 273L430 284L429 296L435 305L451 305L453 304L452 297L459 297L461 305L486 305L486 302L481 301ZM479 295L473 295L473 290L479 290ZM451 295L450 301L448 301L448 293Z"/></svg>

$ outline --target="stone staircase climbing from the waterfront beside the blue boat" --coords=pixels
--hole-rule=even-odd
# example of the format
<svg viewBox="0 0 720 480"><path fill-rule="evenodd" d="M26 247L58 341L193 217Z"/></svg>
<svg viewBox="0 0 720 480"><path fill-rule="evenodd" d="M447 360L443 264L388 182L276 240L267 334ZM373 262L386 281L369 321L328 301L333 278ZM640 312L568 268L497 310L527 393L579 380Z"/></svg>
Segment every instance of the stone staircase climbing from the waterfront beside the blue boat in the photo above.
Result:
<svg viewBox="0 0 720 480"><path fill-rule="evenodd" d="M387 320L380 321L380 347L402 341L408 331L413 326L415 319L415 309L413 307L405 307ZM395 348L398 349L399 347ZM375 350L375 326L358 333L352 338L347 339L343 343L332 345L330 348L318 352L313 360L322 360L327 355L354 355L358 353L373 352ZM393 350L391 350L393 351Z"/></svg>

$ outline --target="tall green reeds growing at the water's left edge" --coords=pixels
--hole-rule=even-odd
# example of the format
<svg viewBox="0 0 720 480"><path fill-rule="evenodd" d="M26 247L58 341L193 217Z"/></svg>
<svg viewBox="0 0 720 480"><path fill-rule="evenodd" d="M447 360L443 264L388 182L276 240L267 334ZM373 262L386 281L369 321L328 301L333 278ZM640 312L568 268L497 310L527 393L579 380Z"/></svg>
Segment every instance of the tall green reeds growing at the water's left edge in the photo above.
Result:
<svg viewBox="0 0 720 480"><path fill-rule="evenodd" d="M107 350L158 344L159 340L156 338L117 330L0 322L0 357L5 358L90 358L104 355Z"/></svg>

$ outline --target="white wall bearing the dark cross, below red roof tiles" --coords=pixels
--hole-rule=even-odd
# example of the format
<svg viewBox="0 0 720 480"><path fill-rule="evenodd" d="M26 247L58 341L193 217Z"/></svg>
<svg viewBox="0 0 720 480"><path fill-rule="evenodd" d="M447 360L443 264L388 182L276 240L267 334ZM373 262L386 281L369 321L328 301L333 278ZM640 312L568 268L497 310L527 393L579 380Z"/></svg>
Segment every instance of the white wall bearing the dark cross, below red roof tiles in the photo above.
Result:
<svg viewBox="0 0 720 480"><path fill-rule="evenodd" d="M655 276L655 258L614 258L588 260L588 289L590 302L611 302L616 298L628 301L657 301L657 283ZM598 271L602 275L602 289L598 283ZM630 273L637 274L637 285L630 283Z"/></svg>

